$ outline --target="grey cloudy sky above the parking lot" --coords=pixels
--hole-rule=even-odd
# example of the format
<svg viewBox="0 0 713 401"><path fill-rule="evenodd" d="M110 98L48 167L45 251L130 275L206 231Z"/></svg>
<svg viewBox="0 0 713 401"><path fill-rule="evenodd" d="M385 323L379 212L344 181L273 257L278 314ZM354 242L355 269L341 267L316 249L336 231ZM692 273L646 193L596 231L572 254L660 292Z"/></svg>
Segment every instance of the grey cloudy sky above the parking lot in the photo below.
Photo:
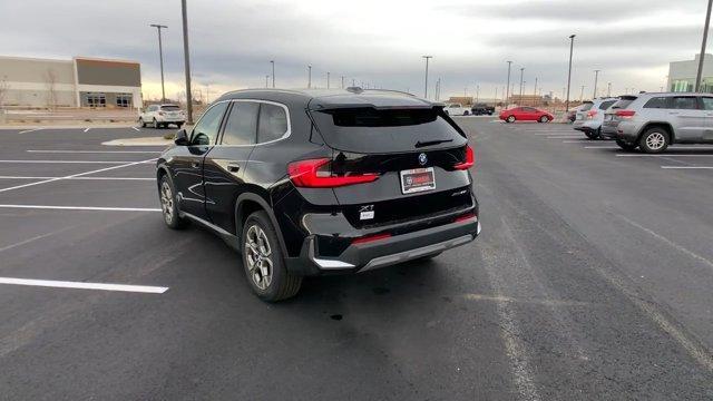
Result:
<svg viewBox="0 0 713 401"><path fill-rule="evenodd" d="M351 85L423 95L423 60L430 88L442 80L442 97L491 98L507 79L526 92L535 78L544 92L561 96L567 79L568 36L576 33L572 97L612 82L658 90L668 61L700 51L706 0L188 0L194 85L211 97L264 87L275 60L279 87L314 86L340 77ZM167 96L183 90L179 0L3 0L0 55L71 58L91 56L141 62L146 97L160 95L156 30L164 36ZM711 45L713 46L713 43ZM709 51L711 52L711 51Z"/></svg>

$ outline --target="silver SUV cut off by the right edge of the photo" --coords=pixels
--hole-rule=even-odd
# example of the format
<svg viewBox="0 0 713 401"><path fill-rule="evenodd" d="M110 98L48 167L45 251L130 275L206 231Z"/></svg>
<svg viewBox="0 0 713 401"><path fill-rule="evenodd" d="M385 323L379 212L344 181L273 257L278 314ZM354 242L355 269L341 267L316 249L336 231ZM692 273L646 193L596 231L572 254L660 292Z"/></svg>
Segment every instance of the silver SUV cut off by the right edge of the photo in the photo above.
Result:
<svg viewBox="0 0 713 401"><path fill-rule="evenodd" d="M602 135L624 150L662 153L672 144L713 143L713 95L622 96L604 117Z"/></svg>

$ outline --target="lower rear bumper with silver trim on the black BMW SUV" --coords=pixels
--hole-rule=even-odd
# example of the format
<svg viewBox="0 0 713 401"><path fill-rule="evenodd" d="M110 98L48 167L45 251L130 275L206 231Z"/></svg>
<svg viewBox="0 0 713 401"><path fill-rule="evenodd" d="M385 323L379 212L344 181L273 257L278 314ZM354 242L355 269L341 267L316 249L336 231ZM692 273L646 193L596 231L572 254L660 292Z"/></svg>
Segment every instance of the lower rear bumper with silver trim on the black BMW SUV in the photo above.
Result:
<svg viewBox="0 0 713 401"><path fill-rule="evenodd" d="M300 275L361 273L437 254L467 244L478 234L480 222L473 216L370 243L351 244L336 257L320 255L315 235L311 235L305 239L300 257L287 260L287 268Z"/></svg>

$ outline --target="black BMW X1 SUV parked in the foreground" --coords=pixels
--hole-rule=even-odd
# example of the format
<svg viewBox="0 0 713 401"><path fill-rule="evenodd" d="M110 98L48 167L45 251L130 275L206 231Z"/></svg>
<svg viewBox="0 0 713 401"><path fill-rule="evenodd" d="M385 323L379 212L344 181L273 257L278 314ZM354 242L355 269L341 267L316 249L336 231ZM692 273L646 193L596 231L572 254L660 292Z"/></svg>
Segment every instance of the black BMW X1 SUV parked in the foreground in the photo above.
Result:
<svg viewBox="0 0 713 401"><path fill-rule="evenodd" d="M428 258L480 232L473 151L442 109L387 90L223 95L157 162L164 219L237 248L253 291Z"/></svg>

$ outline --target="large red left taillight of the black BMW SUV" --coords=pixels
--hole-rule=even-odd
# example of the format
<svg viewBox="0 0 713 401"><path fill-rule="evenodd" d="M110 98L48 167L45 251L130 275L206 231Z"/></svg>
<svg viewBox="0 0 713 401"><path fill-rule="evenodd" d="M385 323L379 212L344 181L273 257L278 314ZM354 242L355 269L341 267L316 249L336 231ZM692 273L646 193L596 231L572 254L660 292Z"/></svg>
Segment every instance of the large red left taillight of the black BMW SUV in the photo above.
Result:
<svg viewBox="0 0 713 401"><path fill-rule="evenodd" d="M371 183L379 178L375 173L332 175L329 169L330 162L328 158L293 162L287 165L287 174L295 186L305 188L333 188Z"/></svg>

